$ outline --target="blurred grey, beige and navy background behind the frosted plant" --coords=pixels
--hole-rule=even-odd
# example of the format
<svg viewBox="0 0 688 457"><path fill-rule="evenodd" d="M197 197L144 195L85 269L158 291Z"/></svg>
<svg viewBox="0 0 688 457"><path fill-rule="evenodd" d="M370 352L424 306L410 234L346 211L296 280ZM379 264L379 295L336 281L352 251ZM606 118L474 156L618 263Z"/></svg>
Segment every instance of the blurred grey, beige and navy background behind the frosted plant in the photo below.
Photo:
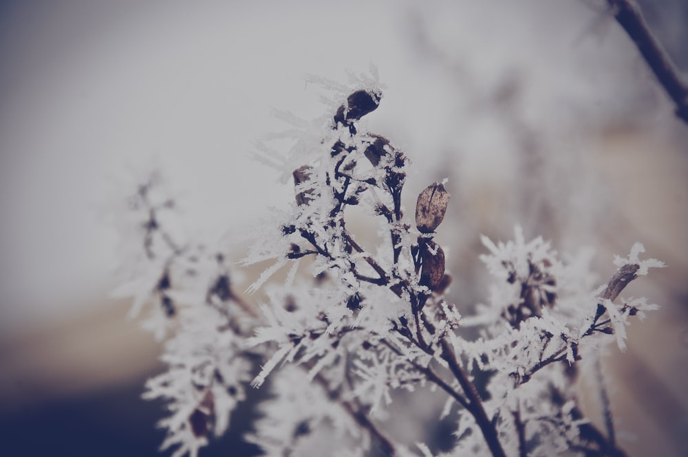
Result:
<svg viewBox="0 0 688 457"><path fill-rule="evenodd" d="M386 88L367 122L412 160L406 208L449 178L439 239L464 309L487 297L480 234L516 223L594 249L601 283L635 241L667 263L624 291L662 308L607 371L628 454L687 456L688 126L604 3L1 2L0 454L155 455L162 405L140 392L160 346L109 298L122 201L161 168L187 228L238 260L293 198L250 157L285 128L272 112L318 117L307 74L372 64ZM688 69L688 3L638 3ZM202 455L255 452L234 425Z"/></svg>

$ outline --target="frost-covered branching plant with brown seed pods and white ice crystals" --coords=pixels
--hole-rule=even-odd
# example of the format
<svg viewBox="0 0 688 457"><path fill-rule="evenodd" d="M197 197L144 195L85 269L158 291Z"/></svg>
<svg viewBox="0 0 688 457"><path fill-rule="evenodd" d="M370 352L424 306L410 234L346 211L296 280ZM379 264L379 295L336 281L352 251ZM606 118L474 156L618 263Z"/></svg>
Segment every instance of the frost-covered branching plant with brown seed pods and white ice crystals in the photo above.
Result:
<svg viewBox="0 0 688 457"><path fill-rule="evenodd" d="M619 294L662 263L641 260L638 243L596 287L584 256L565 262L517 227L507 243L482 238L491 296L462 316L445 298L451 276L434 241L438 230L451 233L442 227L447 183L425 188L415 220L407 218L409 157L359 122L378 107L379 85L357 78L354 87L329 88L324 118L283 115L294 126L279 137L294 139L289 153L260 147L261 159L293 179L295 198L261 223L243 261L269 262L249 288L264 291L259 307L233 291L225 254L166 231L173 204L155 195L157 181L131 201L144 219L147 267L120 294L136 296L137 310L152 299L144 322L167 338L169 368L144 394L169 405L162 447L196 456L208 435L227 429L248 381L260 388L269 380L271 395L246 439L270 456L431 456L433 443L414 447L383 430L400 390L427 387L446 397L432 420L455 423L442 455L623 455L603 383L603 431L583 416L574 383L579 368L599 374L604 346L625 348L630 317L657 308ZM354 207L376 224L376 244L352 231ZM287 265L283 284L269 281Z"/></svg>

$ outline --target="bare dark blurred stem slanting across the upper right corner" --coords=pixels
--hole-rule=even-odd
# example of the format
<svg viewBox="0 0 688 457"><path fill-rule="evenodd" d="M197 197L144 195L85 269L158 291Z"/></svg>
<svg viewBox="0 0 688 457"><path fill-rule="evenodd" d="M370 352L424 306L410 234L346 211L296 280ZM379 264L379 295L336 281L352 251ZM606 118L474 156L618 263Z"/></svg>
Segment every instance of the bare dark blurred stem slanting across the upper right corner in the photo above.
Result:
<svg viewBox="0 0 688 457"><path fill-rule="evenodd" d="M676 105L676 115L688 124L688 86L671 58L650 32L638 6L630 0L607 0L616 22L635 43L654 76Z"/></svg>

